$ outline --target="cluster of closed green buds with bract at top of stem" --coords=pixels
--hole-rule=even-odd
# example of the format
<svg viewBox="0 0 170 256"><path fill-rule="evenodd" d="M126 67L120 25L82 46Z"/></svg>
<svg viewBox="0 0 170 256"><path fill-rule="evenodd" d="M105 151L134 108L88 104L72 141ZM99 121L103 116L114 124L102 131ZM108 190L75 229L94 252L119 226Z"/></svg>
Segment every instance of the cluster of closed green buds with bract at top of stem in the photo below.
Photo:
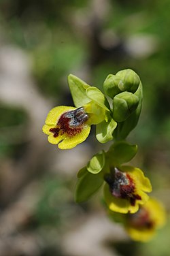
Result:
<svg viewBox="0 0 170 256"><path fill-rule="evenodd" d="M124 69L107 76L103 88L112 99L113 118L118 123L114 136L124 139L139 120L143 97L140 78L135 71Z"/></svg>

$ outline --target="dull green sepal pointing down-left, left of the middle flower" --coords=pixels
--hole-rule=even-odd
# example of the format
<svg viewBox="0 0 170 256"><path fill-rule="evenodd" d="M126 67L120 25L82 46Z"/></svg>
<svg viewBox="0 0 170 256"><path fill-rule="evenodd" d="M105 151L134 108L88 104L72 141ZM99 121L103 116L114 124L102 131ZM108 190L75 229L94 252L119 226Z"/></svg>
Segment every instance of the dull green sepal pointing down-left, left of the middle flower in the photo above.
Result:
<svg viewBox="0 0 170 256"><path fill-rule="evenodd" d="M81 203L89 199L103 185L103 181L100 174L91 174L86 170L75 187L75 202Z"/></svg>

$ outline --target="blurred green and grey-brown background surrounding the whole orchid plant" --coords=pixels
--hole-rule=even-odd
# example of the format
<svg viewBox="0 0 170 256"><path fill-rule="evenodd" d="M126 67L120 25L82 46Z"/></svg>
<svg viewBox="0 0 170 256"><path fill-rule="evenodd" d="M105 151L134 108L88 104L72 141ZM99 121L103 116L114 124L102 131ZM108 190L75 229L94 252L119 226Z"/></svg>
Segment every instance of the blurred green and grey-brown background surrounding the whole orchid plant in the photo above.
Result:
<svg viewBox="0 0 170 256"><path fill-rule="evenodd" d="M73 105L70 73L102 90L108 74L134 69L143 109L129 135L139 146L133 164L168 214L169 13L170 0L0 1L0 255L169 255L169 221L141 244L107 223L101 195L74 203L76 172L103 148L93 130L66 151L41 132L50 108Z"/></svg>

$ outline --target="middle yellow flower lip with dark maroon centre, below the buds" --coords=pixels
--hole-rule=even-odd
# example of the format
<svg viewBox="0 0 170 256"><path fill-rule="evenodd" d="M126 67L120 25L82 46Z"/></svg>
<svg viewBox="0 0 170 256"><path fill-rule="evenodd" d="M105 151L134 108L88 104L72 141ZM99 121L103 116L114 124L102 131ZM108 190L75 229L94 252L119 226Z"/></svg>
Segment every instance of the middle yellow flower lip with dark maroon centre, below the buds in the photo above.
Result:
<svg viewBox="0 0 170 256"><path fill-rule="evenodd" d="M104 198L109 208L114 212L135 213L140 204L145 204L149 197L145 192L151 192L150 180L136 167L122 166L121 170L105 175Z"/></svg>

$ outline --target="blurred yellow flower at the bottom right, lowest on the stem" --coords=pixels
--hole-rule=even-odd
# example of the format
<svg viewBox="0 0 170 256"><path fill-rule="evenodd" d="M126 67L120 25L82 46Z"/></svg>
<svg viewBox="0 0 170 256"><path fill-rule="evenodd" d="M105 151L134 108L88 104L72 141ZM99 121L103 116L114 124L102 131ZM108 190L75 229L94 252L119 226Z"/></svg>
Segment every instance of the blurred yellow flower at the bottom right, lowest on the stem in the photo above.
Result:
<svg viewBox="0 0 170 256"><path fill-rule="evenodd" d="M150 198L135 214L127 214L125 228L131 238L146 242L156 234L156 229L166 221L165 209L156 199Z"/></svg>

